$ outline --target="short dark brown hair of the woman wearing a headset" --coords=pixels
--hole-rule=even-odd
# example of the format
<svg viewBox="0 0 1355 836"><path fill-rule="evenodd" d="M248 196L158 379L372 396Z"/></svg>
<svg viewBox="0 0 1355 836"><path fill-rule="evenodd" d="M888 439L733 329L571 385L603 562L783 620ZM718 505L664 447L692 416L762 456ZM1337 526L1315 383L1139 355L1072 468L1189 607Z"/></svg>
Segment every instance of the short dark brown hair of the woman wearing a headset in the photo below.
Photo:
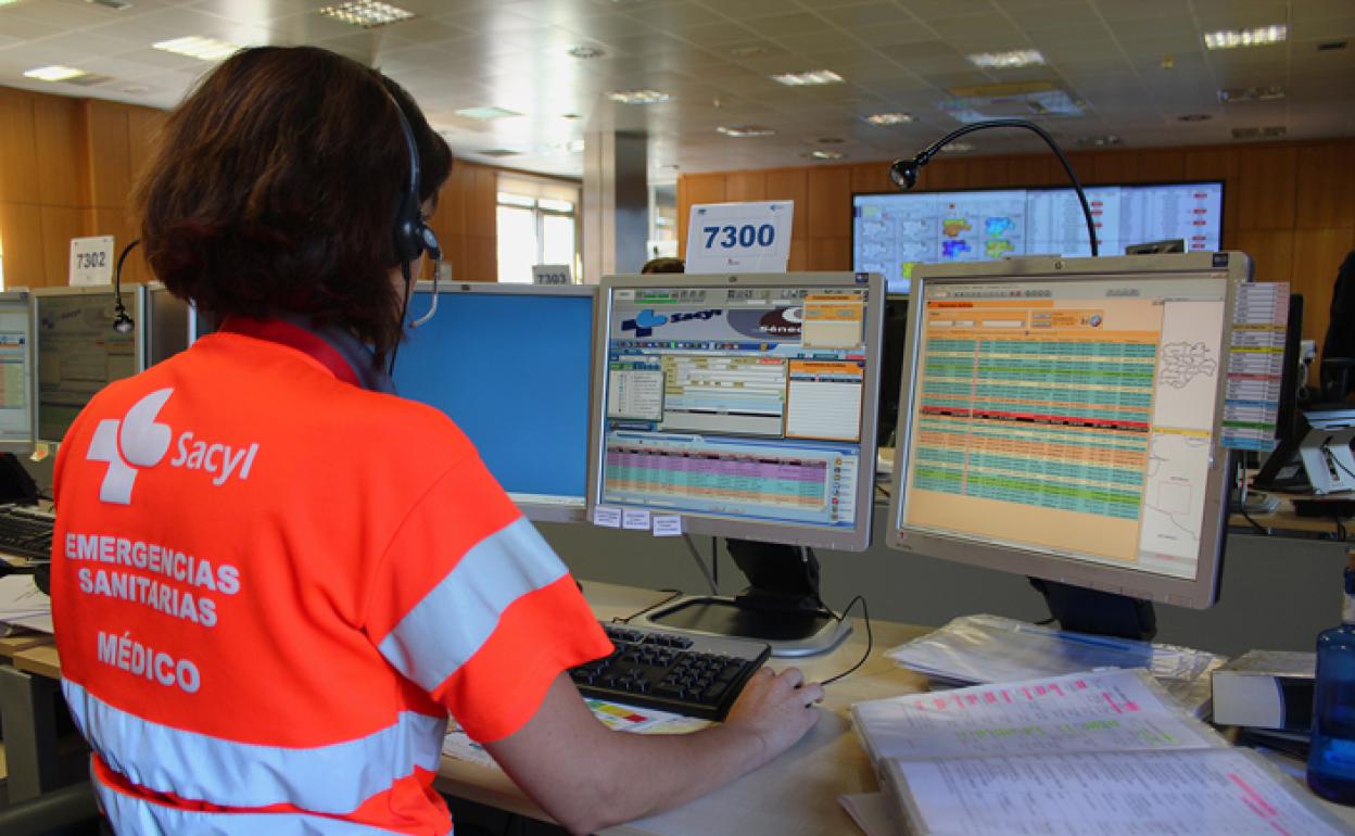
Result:
<svg viewBox="0 0 1355 836"><path fill-rule="evenodd" d="M423 202L451 150L398 84L309 46L225 61L169 117L137 184L156 278L218 316L346 327L383 356L401 335L389 270L409 177L392 96L415 134Z"/></svg>

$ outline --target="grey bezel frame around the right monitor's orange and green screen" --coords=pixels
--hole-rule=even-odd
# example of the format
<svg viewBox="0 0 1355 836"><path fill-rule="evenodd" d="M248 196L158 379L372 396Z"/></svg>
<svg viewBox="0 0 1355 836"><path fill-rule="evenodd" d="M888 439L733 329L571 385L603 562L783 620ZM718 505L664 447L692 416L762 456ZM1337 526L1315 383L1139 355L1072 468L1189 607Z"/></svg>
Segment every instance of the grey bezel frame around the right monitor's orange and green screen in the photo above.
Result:
<svg viewBox="0 0 1355 836"><path fill-rule="evenodd" d="M1226 263L1220 266L1220 256ZM1114 592L1192 610L1203 610L1218 599L1222 577L1224 543L1228 532L1229 451L1221 446L1224 394L1228 382L1229 335L1237 287L1252 278L1252 262L1241 252L1194 252L1153 256L1107 256L1099 259L1056 259L1047 256L1009 259L1004 262L974 262L963 264L919 266L921 274L913 293L915 299L925 299L934 285L972 282L1000 282L1005 279L1076 282L1110 275L1167 276L1173 274L1213 274L1226 279L1224 299L1224 328L1220 335L1218 386L1214 405L1214 453L1210 457L1205 486L1205 524L1201 531L1201 550L1195 577L1180 579L1134 569L1119 569L1103 564L1080 562L1035 549L999 546L957 535L932 531L904 530L901 514L911 448L911 420L916 401L916 374L919 335L925 305L909 310L908 348L904 355L904 378L900 383L898 427L896 430L894 473L890 480L889 523L885 545L911 554L938 557L1028 577Z"/></svg>

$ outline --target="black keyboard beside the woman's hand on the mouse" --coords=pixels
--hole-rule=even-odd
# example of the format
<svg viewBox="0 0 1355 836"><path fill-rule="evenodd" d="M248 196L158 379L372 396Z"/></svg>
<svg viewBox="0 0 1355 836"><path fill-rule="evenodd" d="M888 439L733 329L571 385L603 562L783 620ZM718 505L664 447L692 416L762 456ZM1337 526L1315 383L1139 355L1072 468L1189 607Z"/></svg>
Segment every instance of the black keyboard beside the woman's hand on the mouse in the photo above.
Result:
<svg viewBox="0 0 1355 836"><path fill-rule="evenodd" d="M615 649L569 675L584 696L724 719L767 661L763 642L603 623Z"/></svg>

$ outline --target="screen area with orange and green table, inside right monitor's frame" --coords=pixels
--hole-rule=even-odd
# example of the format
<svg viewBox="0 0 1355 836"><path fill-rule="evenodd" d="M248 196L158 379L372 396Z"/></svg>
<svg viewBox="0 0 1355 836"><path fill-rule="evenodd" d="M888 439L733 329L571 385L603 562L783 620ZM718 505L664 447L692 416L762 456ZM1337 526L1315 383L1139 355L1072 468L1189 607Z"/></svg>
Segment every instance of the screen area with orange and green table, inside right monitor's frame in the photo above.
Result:
<svg viewBox="0 0 1355 836"><path fill-rule="evenodd" d="M1215 279L928 289L905 522L1194 577Z"/></svg>

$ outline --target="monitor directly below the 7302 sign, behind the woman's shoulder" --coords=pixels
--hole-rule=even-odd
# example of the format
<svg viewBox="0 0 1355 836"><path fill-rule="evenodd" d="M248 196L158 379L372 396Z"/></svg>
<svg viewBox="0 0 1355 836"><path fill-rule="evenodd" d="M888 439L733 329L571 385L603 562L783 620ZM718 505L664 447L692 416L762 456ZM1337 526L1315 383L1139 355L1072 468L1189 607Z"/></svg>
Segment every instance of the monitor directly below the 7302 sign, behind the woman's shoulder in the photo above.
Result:
<svg viewBox="0 0 1355 836"><path fill-rule="evenodd" d="M39 287L30 301L34 438L60 443L96 392L144 369L145 287L122 286L129 333L112 328L112 287Z"/></svg>

